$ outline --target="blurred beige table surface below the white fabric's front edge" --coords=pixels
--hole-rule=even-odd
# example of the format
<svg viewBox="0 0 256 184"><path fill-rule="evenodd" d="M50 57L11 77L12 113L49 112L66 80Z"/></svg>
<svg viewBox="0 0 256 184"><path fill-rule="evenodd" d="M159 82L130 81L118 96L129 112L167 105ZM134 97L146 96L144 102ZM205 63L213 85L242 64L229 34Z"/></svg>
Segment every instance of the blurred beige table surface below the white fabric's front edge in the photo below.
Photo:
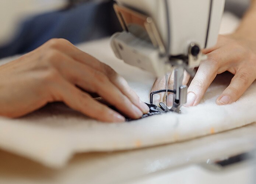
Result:
<svg viewBox="0 0 256 184"><path fill-rule="evenodd" d="M213 176L221 181L224 181L223 177L233 178L237 183L238 180L231 177L236 176L245 183L251 172L249 166L241 167L243 172L226 172L225 175L203 169L200 163L249 151L256 138L255 132L256 123L253 123L175 144L133 151L78 154L67 166L56 170L0 151L0 183L149 183L156 179L168 183L175 178L179 178L180 183L186 183L187 178L191 183L195 178L195 183L204 183ZM186 177L181 177L183 175ZM197 175L200 177L193 177Z"/></svg>

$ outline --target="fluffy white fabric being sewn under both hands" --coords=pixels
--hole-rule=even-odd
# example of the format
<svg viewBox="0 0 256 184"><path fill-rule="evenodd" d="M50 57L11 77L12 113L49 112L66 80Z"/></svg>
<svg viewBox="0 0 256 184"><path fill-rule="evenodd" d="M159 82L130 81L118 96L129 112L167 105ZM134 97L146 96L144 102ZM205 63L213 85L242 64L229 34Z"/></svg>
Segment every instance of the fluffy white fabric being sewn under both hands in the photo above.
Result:
<svg viewBox="0 0 256 184"><path fill-rule="evenodd" d="M112 66L129 81L141 99L148 102L154 77L116 59L108 39L81 45L80 49ZM156 115L131 123L97 122L62 104L50 105L20 119L1 117L0 148L50 167L60 167L78 152L154 146L253 123L256 121L256 82L236 103L215 104L231 77L218 76L200 105L183 107L182 114Z"/></svg>

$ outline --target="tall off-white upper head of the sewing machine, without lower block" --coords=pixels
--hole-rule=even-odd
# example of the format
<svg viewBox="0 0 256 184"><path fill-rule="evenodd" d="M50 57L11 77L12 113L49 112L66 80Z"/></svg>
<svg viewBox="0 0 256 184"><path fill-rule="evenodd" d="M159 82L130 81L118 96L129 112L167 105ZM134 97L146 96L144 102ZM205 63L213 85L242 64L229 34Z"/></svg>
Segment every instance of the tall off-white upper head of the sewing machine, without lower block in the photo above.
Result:
<svg viewBox="0 0 256 184"><path fill-rule="evenodd" d="M168 0L171 40L167 36L164 0L116 0L121 6L139 10L152 17L164 40L170 42L169 54L187 54L187 47L196 42L201 48L215 45L225 0Z"/></svg>

